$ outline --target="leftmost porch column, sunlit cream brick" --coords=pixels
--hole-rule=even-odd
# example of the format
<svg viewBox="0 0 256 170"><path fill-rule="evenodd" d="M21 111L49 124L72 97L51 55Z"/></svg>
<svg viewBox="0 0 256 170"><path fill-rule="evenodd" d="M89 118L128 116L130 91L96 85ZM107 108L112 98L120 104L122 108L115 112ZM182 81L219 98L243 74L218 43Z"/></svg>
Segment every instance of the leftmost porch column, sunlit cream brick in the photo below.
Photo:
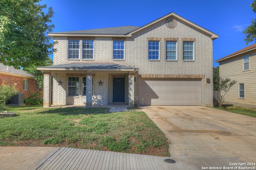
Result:
<svg viewBox="0 0 256 170"><path fill-rule="evenodd" d="M52 74L44 72L44 102L43 107L50 107L52 104Z"/></svg>

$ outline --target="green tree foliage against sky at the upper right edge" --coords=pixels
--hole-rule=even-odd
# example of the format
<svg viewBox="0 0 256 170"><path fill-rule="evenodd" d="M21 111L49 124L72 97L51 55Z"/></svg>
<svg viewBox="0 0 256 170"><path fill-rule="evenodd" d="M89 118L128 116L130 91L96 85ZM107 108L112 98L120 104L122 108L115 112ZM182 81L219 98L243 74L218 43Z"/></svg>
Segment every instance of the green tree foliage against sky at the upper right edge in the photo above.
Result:
<svg viewBox="0 0 256 170"><path fill-rule="evenodd" d="M254 0L250 7L252 7L252 11L256 13L256 0ZM252 41L256 42L256 19L252 19L251 25L246 27L246 29L243 30L243 33L246 35L246 38L244 39L246 45Z"/></svg>

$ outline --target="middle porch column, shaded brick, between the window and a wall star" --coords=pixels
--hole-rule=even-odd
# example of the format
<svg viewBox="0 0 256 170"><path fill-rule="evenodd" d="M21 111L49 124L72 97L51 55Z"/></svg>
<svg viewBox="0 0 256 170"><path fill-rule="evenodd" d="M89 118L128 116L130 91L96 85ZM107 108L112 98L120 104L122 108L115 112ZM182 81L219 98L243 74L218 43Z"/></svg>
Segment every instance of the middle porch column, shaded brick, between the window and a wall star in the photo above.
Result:
<svg viewBox="0 0 256 170"><path fill-rule="evenodd" d="M92 71L86 72L86 107L92 107Z"/></svg>

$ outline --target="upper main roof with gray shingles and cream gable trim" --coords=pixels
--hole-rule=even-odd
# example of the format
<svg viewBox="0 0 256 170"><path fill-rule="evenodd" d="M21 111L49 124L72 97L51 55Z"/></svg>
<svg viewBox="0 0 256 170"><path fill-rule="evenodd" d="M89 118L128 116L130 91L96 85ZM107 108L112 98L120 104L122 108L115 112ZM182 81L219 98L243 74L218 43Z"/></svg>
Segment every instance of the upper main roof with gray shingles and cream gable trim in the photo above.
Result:
<svg viewBox="0 0 256 170"><path fill-rule="evenodd" d="M161 18L158 18L157 20L154 20L142 27L136 27L136 26L122 26L122 27L109 27L109 28L100 28L100 29L86 29L86 30L80 30L80 31L65 31L65 32L56 32L56 33L49 33L49 36L111 36L111 37L131 37L133 33L136 33L142 29L145 29L146 27L149 27L150 25L153 25L154 23L164 20L169 17L177 18L184 23L194 27L195 29L198 29L208 35L210 35L211 39L214 40L218 38L219 36L208 29L205 29L189 20L186 20L185 18L182 18L181 16L175 14L174 12L171 12L170 14L167 14Z"/></svg>

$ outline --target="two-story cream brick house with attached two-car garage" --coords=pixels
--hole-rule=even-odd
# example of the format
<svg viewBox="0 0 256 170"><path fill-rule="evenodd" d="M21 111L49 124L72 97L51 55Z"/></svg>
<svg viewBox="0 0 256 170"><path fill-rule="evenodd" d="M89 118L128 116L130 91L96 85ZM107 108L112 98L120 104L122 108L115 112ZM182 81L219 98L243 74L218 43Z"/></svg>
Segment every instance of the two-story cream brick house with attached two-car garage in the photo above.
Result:
<svg viewBox="0 0 256 170"><path fill-rule="evenodd" d="M170 13L142 27L49 34L56 52L44 72L53 105L213 106L212 41L218 35Z"/></svg>

